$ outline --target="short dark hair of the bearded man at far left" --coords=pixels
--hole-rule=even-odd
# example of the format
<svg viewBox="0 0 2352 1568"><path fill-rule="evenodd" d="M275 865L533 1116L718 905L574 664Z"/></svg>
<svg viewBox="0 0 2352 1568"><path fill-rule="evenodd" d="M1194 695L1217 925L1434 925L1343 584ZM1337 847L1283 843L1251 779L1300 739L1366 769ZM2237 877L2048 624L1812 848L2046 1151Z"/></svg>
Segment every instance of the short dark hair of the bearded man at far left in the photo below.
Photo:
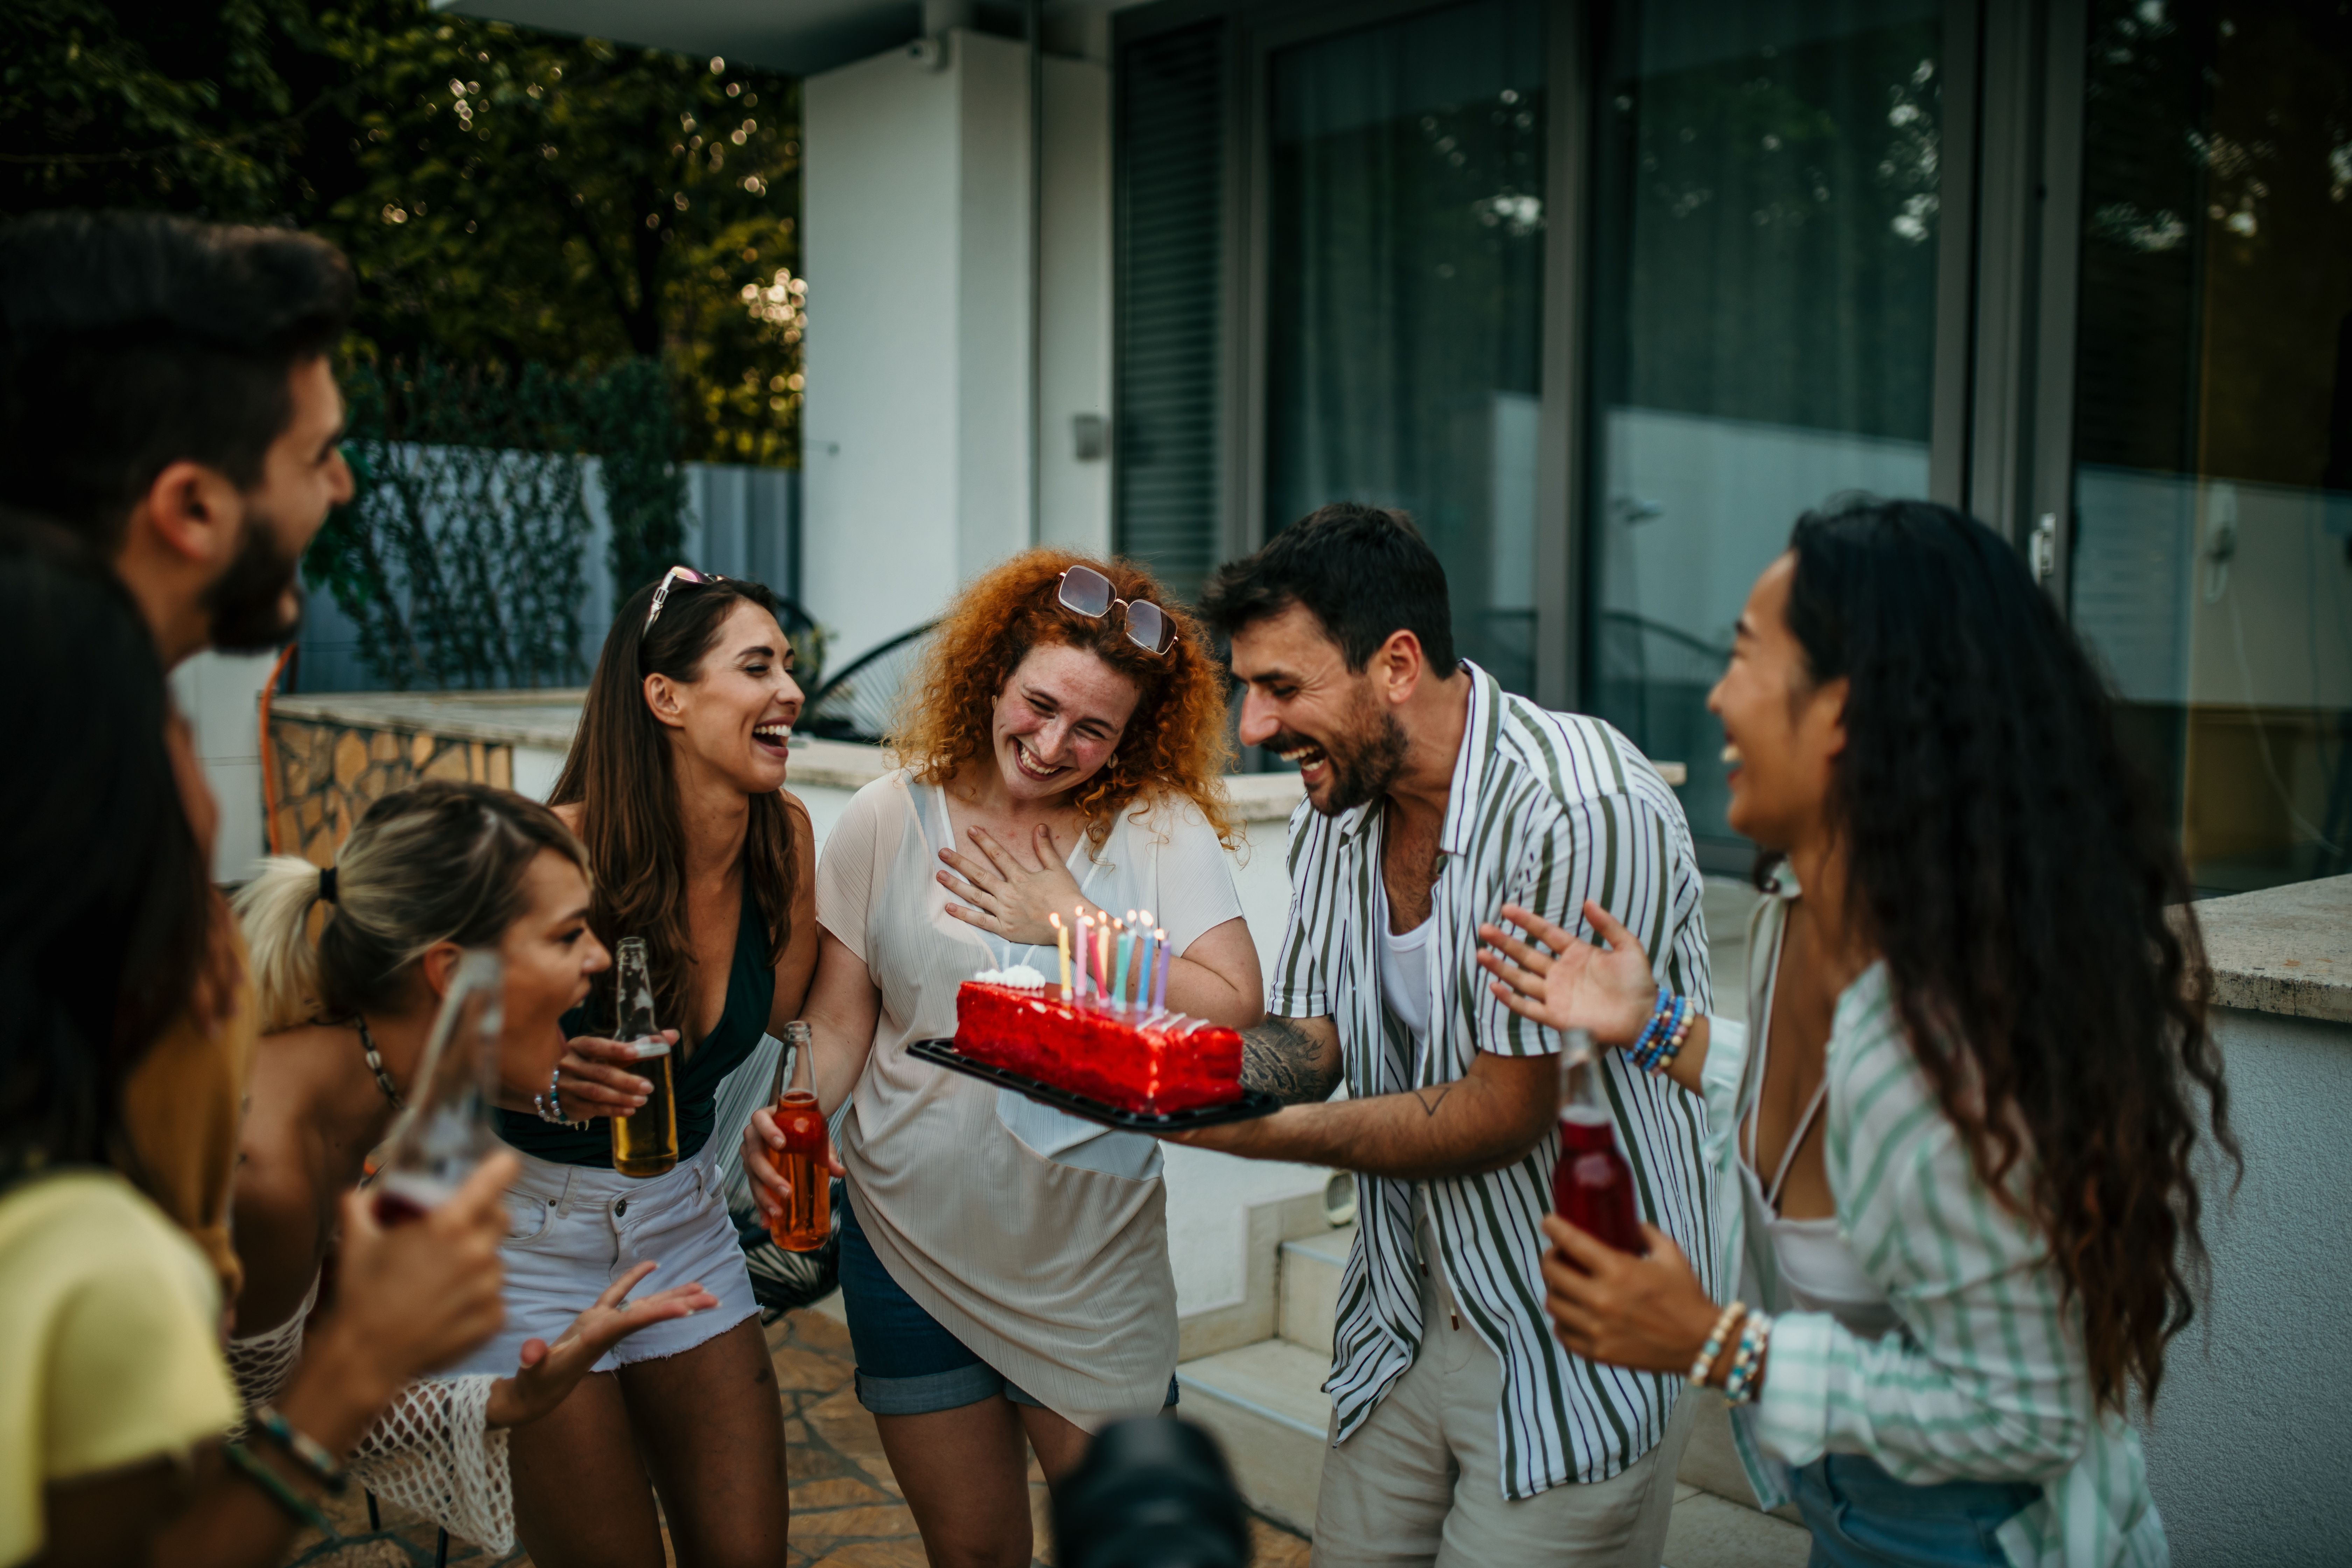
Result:
<svg viewBox="0 0 2352 1568"><path fill-rule="evenodd" d="M0 226L0 503L113 552L169 463L238 489L294 414L296 364L350 320L325 240L146 212Z"/></svg>

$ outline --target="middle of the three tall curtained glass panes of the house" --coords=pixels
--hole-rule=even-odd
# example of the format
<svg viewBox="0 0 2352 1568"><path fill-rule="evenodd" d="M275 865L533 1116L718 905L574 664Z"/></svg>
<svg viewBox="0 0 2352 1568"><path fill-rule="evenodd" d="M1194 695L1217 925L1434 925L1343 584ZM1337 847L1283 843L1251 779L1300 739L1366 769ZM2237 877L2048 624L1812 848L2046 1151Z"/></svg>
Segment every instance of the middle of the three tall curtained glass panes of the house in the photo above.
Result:
<svg viewBox="0 0 2352 1568"><path fill-rule="evenodd" d="M1943 16L1933 0L1611 7L1597 103L1592 710L1684 762L1729 844L1705 696L1790 524L1926 494Z"/></svg>

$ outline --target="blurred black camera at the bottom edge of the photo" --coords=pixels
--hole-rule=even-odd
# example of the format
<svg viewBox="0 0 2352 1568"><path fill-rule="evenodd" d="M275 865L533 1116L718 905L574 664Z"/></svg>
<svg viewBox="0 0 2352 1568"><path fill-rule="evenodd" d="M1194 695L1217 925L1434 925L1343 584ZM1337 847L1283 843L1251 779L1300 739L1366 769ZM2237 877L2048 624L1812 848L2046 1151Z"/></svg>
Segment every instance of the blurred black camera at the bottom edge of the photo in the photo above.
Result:
<svg viewBox="0 0 2352 1568"><path fill-rule="evenodd" d="M1249 1514L1216 1441L1174 1418L1103 1427L1054 1495L1061 1568L1247 1568Z"/></svg>

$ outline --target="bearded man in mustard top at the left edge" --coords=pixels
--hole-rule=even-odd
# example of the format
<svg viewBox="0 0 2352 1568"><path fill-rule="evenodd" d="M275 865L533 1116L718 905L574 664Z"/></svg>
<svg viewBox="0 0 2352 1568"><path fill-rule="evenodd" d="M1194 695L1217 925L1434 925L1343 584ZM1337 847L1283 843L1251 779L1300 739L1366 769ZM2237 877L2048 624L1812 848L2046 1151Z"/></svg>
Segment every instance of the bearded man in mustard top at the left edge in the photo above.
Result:
<svg viewBox="0 0 2352 1568"><path fill-rule="evenodd" d="M341 252L282 228L129 212L0 226L0 505L111 564L167 670L296 630L294 567L353 489L329 362L350 299ZM214 802L186 722L169 743L209 865ZM198 997L125 1084L122 1121L129 1175L235 1300L228 1185L254 1018L226 905L214 936Z"/></svg>

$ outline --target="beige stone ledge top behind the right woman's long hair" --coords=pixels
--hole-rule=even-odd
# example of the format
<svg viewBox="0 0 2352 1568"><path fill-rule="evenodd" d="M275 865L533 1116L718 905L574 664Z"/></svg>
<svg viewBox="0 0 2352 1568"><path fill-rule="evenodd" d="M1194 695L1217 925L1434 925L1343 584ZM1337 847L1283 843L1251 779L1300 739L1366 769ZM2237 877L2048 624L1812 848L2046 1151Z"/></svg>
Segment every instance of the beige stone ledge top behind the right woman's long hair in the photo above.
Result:
<svg viewBox="0 0 2352 1568"><path fill-rule="evenodd" d="M2213 1001L2352 1023L2352 877L2201 898Z"/></svg>

